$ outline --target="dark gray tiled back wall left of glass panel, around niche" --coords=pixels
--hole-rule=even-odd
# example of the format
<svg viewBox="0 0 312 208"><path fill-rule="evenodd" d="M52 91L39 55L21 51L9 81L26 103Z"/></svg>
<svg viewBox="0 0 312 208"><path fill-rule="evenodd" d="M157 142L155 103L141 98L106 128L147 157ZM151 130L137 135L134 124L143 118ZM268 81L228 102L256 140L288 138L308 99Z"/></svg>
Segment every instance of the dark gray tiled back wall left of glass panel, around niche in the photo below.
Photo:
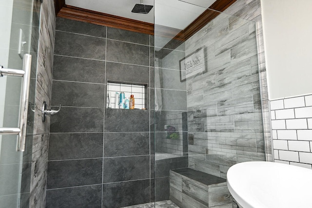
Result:
<svg viewBox="0 0 312 208"><path fill-rule="evenodd" d="M51 105L62 109L51 116L47 208L154 200L150 110L105 108L106 85L114 80L144 83L150 109L150 38L57 18Z"/></svg>

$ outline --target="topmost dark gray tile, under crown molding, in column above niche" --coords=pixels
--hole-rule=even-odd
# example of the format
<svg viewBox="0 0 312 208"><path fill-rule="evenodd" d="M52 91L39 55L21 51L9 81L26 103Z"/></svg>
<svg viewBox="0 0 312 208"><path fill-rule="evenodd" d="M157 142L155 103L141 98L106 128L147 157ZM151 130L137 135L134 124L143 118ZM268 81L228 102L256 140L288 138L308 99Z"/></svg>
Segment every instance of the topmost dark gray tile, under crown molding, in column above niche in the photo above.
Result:
<svg viewBox="0 0 312 208"><path fill-rule="evenodd" d="M107 27L107 38L143 45L149 45L150 42L149 35L147 34L121 30L113 27Z"/></svg>

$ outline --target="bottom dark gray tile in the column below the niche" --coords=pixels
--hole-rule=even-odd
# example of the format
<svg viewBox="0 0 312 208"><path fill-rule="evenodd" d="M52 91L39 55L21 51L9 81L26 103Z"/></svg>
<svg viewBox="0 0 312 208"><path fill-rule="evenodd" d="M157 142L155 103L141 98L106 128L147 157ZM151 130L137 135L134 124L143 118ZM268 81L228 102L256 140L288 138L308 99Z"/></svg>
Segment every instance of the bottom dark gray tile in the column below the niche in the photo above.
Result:
<svg viewBox="0 0 312 208"><path fill-rule="evenodd" d="M103 184L103 208L138 205L149 200L149 179Z"/></svg>

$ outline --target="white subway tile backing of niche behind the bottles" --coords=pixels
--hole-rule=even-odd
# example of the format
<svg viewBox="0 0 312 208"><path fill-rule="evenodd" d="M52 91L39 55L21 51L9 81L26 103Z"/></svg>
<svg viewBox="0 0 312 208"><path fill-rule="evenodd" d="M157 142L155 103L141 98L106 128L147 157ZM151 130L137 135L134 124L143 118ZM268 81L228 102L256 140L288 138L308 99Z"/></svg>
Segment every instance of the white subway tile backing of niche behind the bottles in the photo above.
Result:
<svg viewBox="0 0 312 208"><path fill-rule="evenodd" d="M134 95L135 98L135 108L142 109L145 108L145 86L136 85L136 84L123 84L123 83L107 83L107 93L111 95L111 106L112 108L119 108L115 105L116 99L119 99L118 96L120 92L125 93L125 98L130 98L130 95ZM107 95L108 96L108 95ZM117 100L117 103L118 100ZM107 99L108 107L108 99Z"/></svg>

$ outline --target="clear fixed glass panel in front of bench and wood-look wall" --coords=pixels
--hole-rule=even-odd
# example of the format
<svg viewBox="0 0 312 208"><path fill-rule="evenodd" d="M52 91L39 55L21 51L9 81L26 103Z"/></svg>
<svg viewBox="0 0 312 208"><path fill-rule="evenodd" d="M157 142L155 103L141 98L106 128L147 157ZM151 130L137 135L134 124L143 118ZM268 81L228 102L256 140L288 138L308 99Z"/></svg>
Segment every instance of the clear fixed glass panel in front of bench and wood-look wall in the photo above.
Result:
<svg viewBox="0 0 312 208"><path fill-rule="evenodd" d="M180 207L231 206L211 200L212 193L195 188L196 180L184 181L185 174L177 181L178 174L169 170L190 168L226 179L232 165L266 159L256 23L227 15L227 10L185 4L194 8L192 14L173 16L170 3L155 5L155 197ZM195 11L211 19L188 36L189 22L198 23ZM231 7L228 12L233 14ZM181 22L187 15L194 19L185 27L157 25L166 18ZM168 158L157 159L157 154Z"/></svg>

